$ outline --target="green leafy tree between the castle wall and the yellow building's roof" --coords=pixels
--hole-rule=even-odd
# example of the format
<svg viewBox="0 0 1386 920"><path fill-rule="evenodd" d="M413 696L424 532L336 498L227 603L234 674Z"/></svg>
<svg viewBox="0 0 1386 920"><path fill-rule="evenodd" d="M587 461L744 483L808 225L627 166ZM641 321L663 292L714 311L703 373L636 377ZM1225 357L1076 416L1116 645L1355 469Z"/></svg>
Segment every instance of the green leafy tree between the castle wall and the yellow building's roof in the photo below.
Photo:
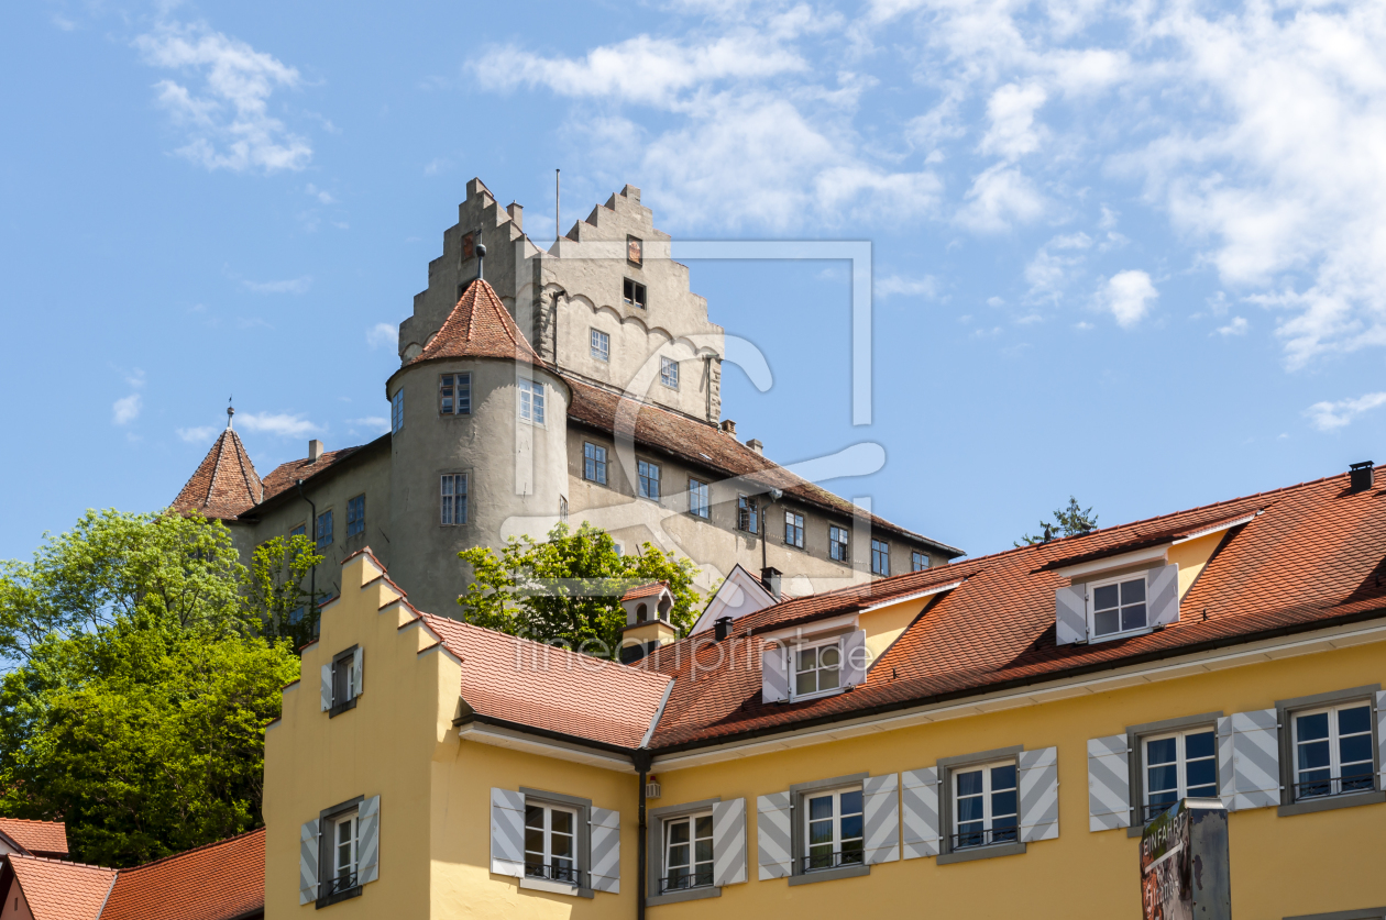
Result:
<svg viewBox="0 0 1386 920"><path fill-rule="evenodd" d="M638 556L621 556L610 533L586 522L577 531L559 524L543 542L511 538L499 556L484 546L457 556L473 571L457 597L463 619L498 632L615 657L625 626L621 594L661 581L674 594L674 628L682 635L696 619L700 596L690 561L650 543Z"/></svg>

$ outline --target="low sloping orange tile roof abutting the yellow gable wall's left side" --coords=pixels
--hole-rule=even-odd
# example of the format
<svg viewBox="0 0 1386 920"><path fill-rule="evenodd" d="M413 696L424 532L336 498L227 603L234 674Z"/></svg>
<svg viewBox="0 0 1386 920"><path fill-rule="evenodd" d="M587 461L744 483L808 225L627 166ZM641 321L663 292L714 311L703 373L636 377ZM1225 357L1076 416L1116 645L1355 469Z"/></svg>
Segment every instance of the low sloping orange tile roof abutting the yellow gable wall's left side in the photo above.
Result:
<svg viewBox="0 0 1386 920"><path fill-rule="evenodd" d="M101 920L231 920L263 908L261 827L122 870Z"/></svg>

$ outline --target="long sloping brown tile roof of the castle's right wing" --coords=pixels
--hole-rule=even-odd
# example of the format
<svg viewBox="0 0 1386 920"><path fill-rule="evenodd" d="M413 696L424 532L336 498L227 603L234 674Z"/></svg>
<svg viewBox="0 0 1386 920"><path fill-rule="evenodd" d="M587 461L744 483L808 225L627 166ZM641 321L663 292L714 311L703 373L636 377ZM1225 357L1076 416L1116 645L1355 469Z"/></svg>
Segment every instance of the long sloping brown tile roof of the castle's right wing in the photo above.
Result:
<svg viewBox="0 0 1386 920"><path fill-rule="evenodd" d="M621 393L593 387L570 375L564 375L563 380L572 391L568 417L600 431L613 432L617 427L618 413L621 413L622 399L625 398ZM807 479L801 479L773 460L755 453L735 436L723 434L711 423L697 421L651 403L636 402L633 399L628 399L626 402L636 407L635 441L642 446L656 448L694 467L714 470L728 478L743 477L750 484L783 489L787 495L801 502L836 511L848 518L854 514L861 514L861 508L847 499L833 495ZM621 414L625 417L625 413ZM927 543L949 558L962 556L962 550L955 546L948 546L913 531L906 531L898 524L891 524L875 514L868 517L876 529Z"/></svg>

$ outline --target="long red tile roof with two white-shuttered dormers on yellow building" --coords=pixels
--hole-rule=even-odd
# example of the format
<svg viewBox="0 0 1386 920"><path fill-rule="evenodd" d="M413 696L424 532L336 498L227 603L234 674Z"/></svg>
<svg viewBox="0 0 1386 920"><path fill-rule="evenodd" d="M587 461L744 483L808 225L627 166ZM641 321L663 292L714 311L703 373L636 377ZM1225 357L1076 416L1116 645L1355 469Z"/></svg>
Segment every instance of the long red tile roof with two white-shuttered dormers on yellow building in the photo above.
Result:
<svg viewBox="0 0 1386 920"><path fill-rule="evenodd" d="M1379 481L1379 479L1378 479ZM1089 557L1153 533L1191 533L1263 511L1231 529L1181 603L1173 626L1088 646L1055 644L1053 560ZM705 635L665 646L640 665L676 676L651 738L672 748L789 730L1117 668L1281 632L1386 617L1386 489L1349 492L1347 477L1192 508L1085 536L962 560L825 594L736 621L737 636L850 611L965 579L938 594L850 693L800 704L761 702L760 655ZM735 637L733 637L735 639ZM696 647L694 647L696 644ZM742 648L729 658L728 653ZM696 662L696 664L694 664ZM696 671L694 671L696 668Z"/></svg>

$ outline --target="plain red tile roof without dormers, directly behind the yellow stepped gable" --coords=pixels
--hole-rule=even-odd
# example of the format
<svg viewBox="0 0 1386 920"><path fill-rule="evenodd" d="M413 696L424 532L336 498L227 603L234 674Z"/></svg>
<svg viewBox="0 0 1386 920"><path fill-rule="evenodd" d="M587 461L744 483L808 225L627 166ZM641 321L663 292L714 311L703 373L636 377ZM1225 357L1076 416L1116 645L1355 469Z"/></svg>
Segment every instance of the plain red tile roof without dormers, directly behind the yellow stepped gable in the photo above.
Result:
<svg viewBox="0 0 1386 920"><path fill-rule="evenodd" d="M669 678L421 614L462 660L462 698L482 718L636 748Z"/></svg>

